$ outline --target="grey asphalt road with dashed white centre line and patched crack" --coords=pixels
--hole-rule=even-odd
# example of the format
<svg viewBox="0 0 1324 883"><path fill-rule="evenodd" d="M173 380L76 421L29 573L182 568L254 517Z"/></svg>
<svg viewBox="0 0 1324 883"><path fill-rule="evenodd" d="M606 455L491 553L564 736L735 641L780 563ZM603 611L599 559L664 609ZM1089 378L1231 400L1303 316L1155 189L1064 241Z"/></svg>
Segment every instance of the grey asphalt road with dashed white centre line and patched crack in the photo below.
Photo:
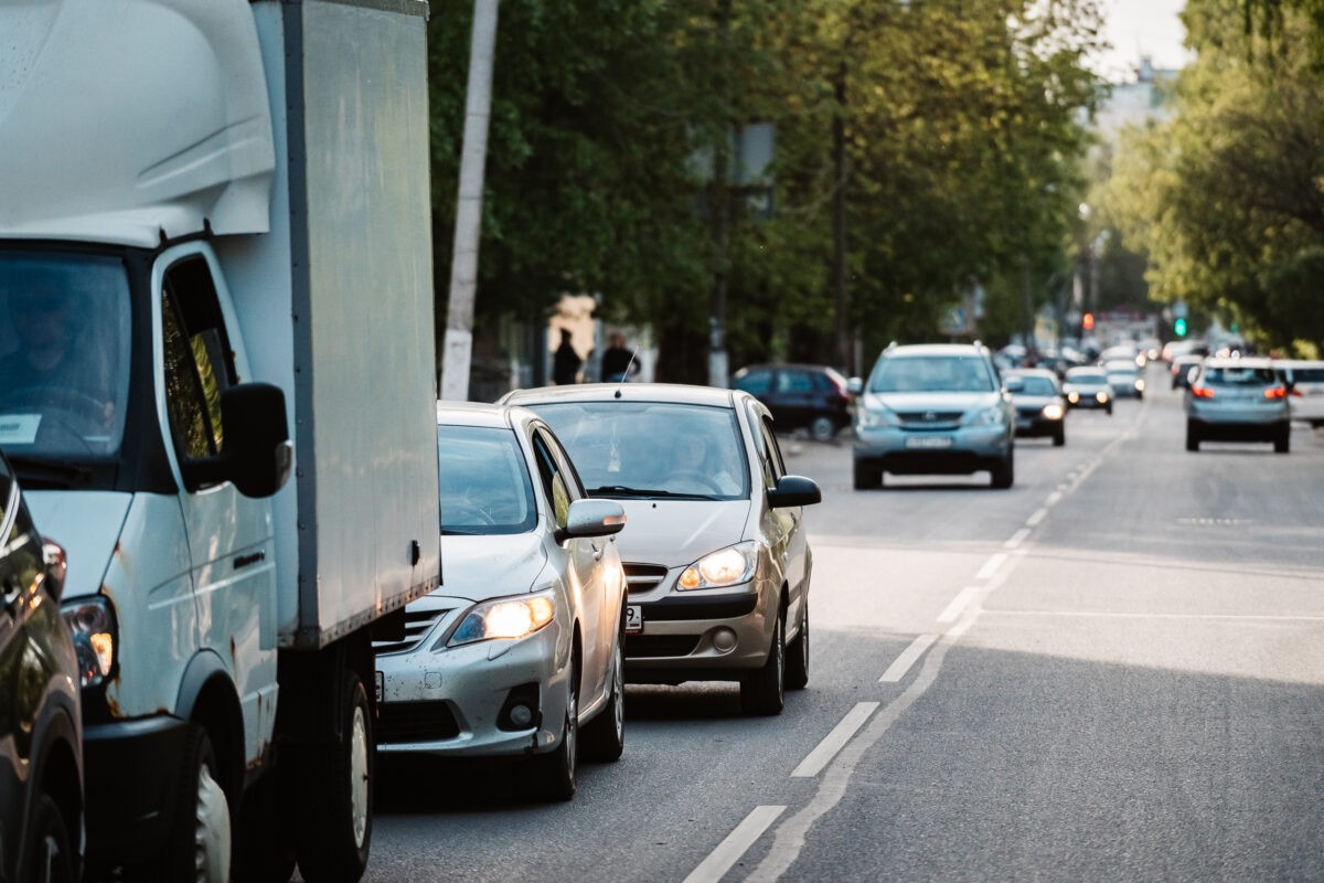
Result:
<svg viewBox="0 0 1324 883"><path fill-rule="evenodd" d="M786 440L824 503L785 712L630 687L571 804L384 764L365 879L1324 880L1324 436L1186 453L1152 376L1008 491Z"/></svg>

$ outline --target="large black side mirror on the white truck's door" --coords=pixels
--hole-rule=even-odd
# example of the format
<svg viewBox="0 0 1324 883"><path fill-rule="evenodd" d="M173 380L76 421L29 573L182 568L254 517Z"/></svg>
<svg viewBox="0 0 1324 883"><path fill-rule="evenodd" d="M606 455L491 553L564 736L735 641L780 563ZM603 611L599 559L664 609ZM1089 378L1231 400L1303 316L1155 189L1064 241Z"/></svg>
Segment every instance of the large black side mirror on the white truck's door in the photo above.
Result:
<svg viewBox="0 0 1324 883"><path fill-rule="evenodd" d="M294 445L279 387L248 383L221 393L225 447L221 471L245 496L271 496L285 487Z"/></svg>

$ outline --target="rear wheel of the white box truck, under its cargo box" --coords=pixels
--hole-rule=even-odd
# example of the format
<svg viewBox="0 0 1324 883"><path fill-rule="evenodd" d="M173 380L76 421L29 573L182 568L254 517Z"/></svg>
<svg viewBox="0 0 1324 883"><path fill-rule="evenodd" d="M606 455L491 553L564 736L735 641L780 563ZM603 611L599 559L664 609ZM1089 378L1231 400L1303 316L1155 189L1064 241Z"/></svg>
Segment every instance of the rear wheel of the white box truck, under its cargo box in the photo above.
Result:
<svg viewBox="0 0 1324 883"><path fill-rule="evenodd" d="M308 883L356 883L372 845L372 710L363 682L346 669L339 731L344 740L299 757L298 857Z"/></svg>

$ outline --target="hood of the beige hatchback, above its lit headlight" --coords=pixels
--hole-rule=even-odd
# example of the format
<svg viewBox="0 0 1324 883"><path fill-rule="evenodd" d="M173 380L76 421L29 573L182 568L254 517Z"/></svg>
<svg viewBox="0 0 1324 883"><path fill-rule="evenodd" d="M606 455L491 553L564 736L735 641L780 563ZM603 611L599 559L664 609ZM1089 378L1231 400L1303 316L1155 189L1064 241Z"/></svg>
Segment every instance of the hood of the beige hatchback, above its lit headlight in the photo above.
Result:
<svg viewBox="0 0 1324 883"><path fill-rule="evenodd" d="M622 561L685 567L745 537L749 500L624 499Z"/></svg>

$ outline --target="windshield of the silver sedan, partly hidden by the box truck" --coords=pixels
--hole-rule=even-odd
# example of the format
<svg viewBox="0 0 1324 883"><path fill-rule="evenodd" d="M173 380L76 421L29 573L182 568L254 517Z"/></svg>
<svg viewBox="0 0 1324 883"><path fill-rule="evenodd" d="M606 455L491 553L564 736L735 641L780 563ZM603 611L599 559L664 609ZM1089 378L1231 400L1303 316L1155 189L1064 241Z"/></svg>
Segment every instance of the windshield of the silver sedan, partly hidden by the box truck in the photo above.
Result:
<svg viewBox="0 0 1324 883"><path fill-rule="evenodd" d="M437 426L441 532L523 534L538 510L519 440L508 429Z"/></svg>

